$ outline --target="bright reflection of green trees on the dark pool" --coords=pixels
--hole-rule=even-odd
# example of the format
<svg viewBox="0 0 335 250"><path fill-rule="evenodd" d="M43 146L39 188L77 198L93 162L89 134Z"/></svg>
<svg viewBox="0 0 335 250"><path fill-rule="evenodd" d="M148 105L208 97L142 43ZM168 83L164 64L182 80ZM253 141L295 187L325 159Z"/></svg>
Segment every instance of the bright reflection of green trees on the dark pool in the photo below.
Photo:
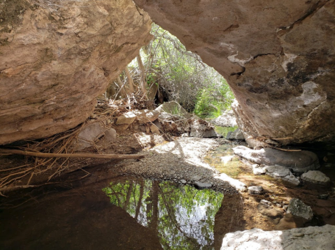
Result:
<svg viewBox="0 0 335 250"><path fill-rule="evenodd" d="M103 191L111 203L157 233L164 249L214 249L222 193L147 179L111 182Z"/></svg>

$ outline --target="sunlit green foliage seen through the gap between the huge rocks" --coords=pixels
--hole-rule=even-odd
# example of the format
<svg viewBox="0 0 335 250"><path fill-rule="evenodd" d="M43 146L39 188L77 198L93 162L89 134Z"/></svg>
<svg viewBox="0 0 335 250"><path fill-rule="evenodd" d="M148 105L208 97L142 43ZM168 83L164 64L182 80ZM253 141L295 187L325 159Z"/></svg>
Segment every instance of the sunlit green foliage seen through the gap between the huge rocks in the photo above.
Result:
<svg viewBox="0 0 335 250"><path fill-rule="evenodd" d="M148 87L152 82L159 84L168 101L177 101L197 115L217 117L229 108L234 96L217 71L157 24L152 24L151 33L154 39L141 50Z"/></svg>

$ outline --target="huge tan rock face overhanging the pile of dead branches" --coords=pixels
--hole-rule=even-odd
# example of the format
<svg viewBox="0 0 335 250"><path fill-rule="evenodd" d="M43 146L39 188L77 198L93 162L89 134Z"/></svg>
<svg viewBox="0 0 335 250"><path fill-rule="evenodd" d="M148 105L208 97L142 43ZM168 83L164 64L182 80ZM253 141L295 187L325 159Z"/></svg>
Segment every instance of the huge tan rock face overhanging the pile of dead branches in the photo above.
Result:
<svg viewBox="0 0 335 250"><path fill-rule="evenodd" d="M142 12L131 0L0 0L0 145L84 122L150 40Z"/></svg>

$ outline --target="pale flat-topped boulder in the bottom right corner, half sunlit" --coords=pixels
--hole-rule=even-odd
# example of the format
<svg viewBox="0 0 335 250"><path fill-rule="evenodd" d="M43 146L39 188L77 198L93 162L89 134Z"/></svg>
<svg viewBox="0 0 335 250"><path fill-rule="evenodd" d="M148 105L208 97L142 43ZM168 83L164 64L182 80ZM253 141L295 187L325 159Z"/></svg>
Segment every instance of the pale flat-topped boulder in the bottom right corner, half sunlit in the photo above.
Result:
<svg viewBox="0 0 335 250"><path fill-rule="evenodd" d="M221 250L334 250L335 226L309 226L290 230L263 231L251 230L227 233L222 241Z"/></svg>

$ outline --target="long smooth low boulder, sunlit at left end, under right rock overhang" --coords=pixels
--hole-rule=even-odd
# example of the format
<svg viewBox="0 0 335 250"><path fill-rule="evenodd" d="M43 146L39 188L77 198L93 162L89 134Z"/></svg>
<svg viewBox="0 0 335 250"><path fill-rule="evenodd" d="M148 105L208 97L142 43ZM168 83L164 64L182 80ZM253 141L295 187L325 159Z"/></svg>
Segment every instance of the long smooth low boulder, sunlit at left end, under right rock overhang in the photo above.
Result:
<svg viewBox="0 0 335 250"><path fill-rule="evenodd" d="M271 148L253 150L244 146L234 147L233 150L235 154L248 161L266 166L283 166L299 173L320 167L318 156L305 150L299 152L285 152Z"/></svg>

